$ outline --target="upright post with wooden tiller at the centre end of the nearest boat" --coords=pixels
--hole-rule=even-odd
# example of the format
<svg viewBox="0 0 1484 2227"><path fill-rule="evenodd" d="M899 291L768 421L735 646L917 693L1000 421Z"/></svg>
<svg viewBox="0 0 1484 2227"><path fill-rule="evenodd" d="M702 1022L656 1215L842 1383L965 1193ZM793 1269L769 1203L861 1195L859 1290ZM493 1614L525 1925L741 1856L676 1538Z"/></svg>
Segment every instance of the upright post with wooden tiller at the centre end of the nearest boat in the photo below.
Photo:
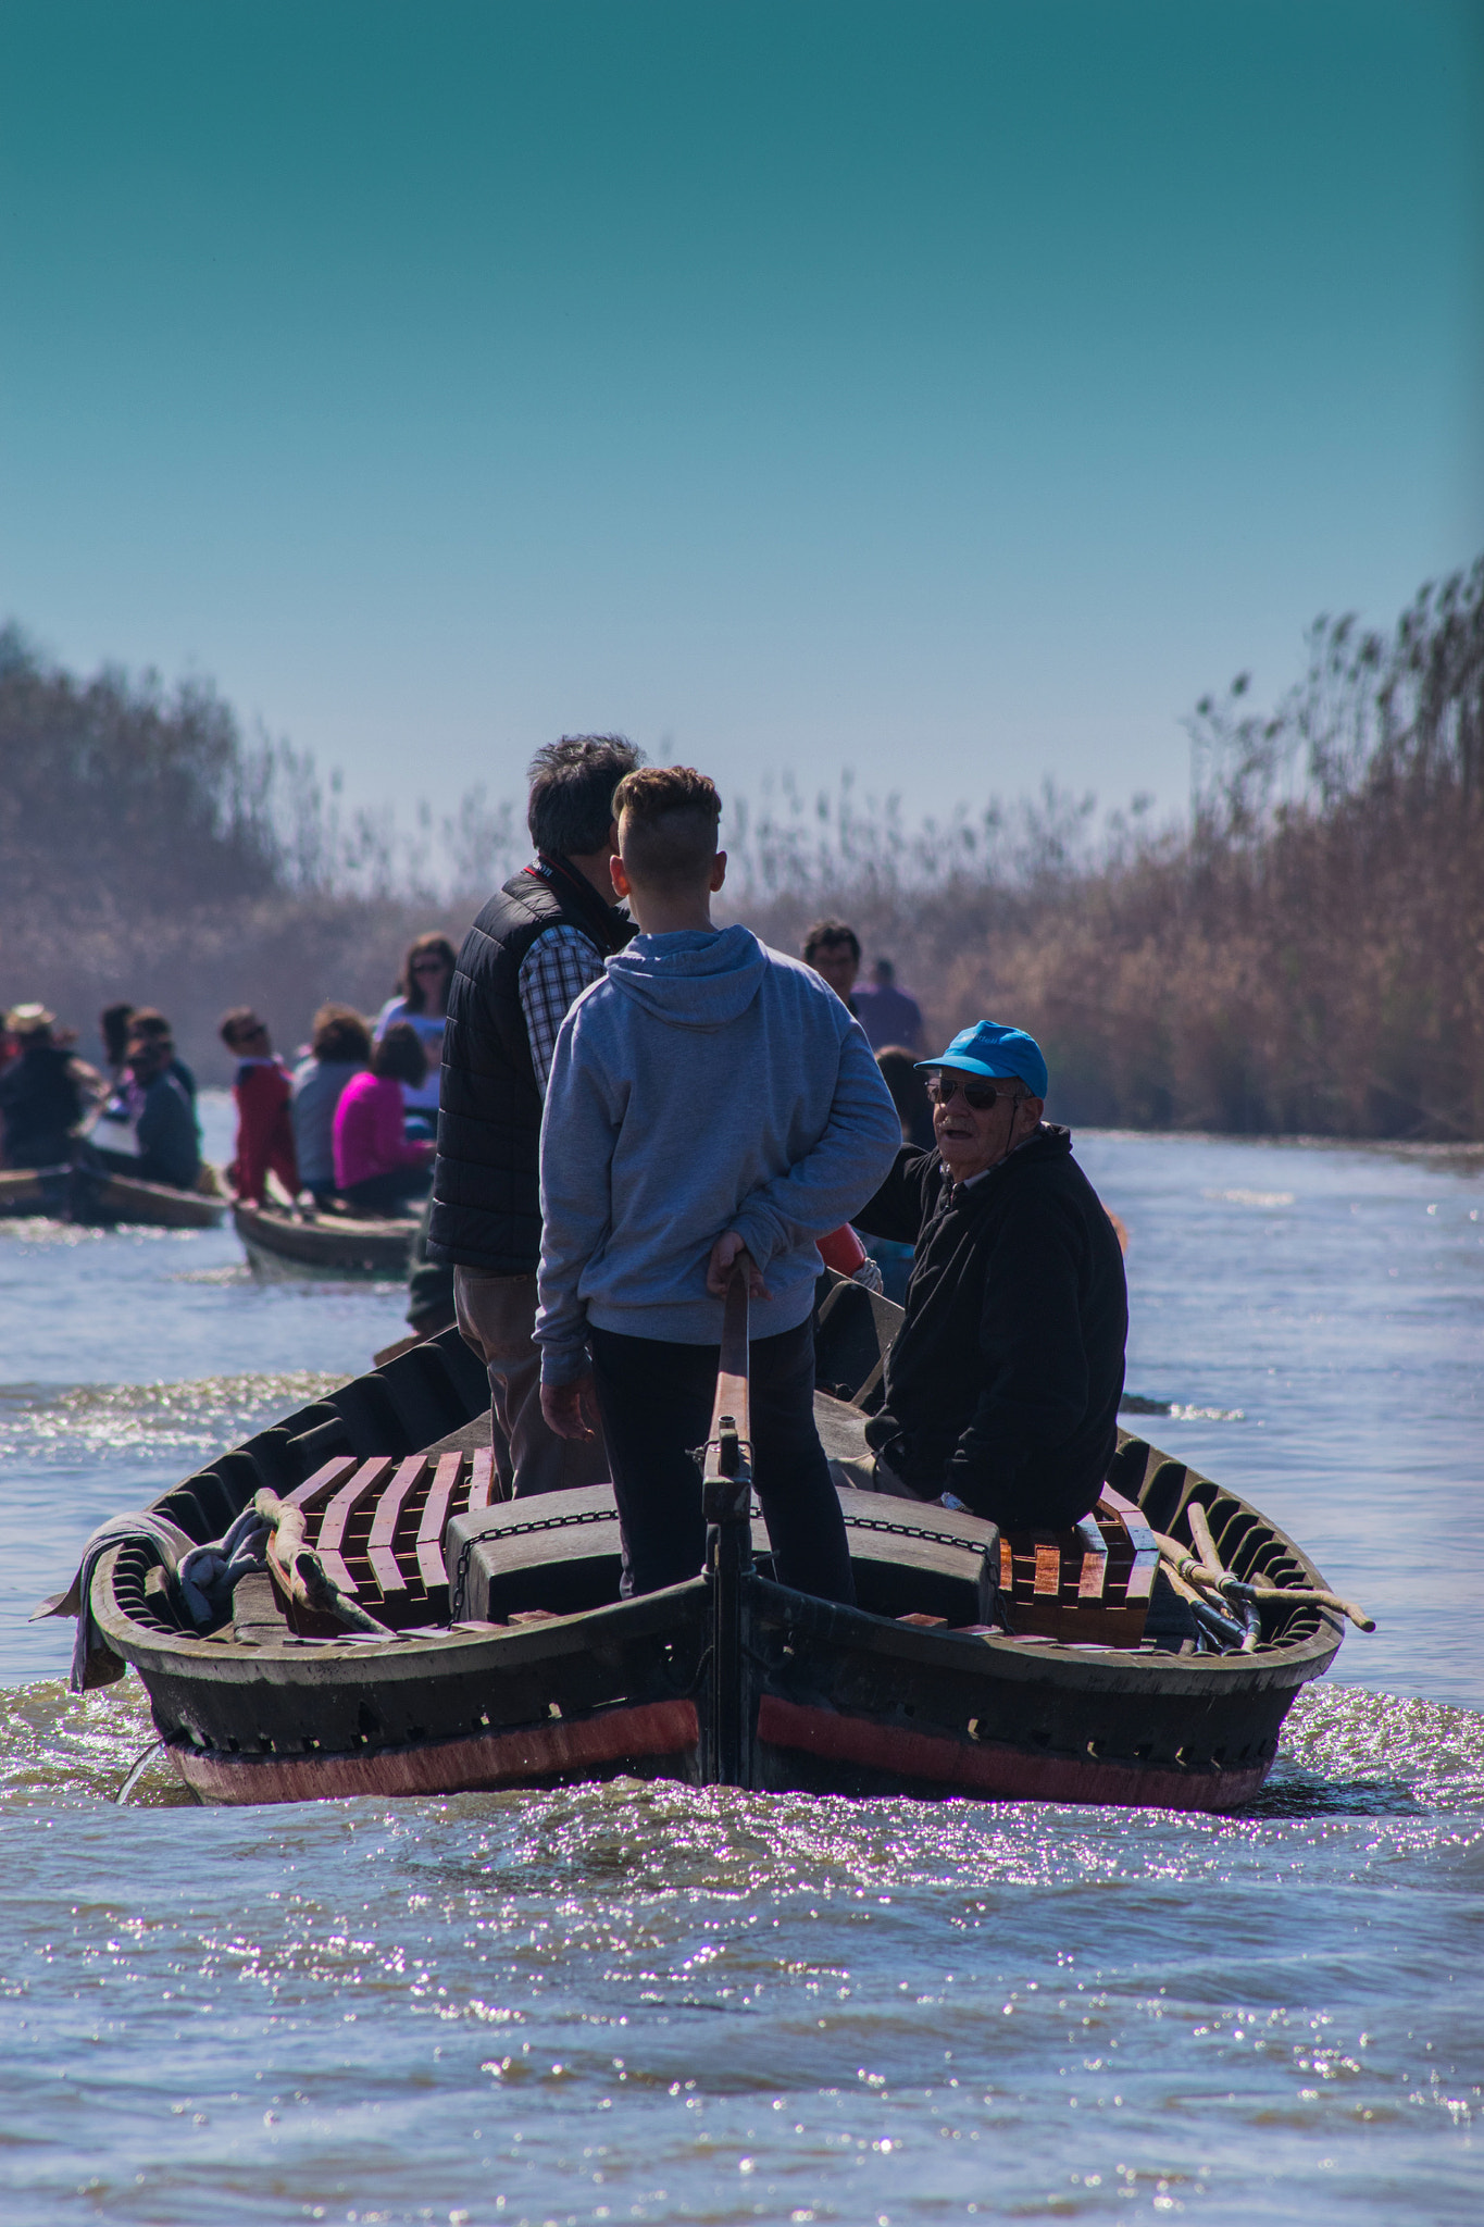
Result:
<svg viewBox="0 0 1484 2227"><path fill-rule="evenodd" d="M712 1588L712 1664L703 1733L705 1782L752 1784L752 1677L748 1579L752 1577L752 1414L748 1396L748 1281L728 1285L716 1399L701 1481L705 1577Z"/></svg>

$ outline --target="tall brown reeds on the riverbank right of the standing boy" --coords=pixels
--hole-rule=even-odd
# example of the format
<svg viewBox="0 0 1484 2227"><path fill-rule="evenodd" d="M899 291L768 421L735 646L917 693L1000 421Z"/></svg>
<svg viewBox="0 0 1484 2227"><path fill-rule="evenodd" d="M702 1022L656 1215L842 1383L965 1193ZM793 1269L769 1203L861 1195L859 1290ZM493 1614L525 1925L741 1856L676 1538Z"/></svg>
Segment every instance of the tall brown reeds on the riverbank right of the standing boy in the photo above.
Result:
<svg viewBox="0 0 1484 2227"><path fill-rule="evenodd" d="M1175 831L1050 788L917 831L785 795L748 918L852 915L941 1029L1035 1029L1075 1120L1484 1138L1484 559L1388 635L1315 621L1277 708L1241 675L1190 737Z"/></svg>

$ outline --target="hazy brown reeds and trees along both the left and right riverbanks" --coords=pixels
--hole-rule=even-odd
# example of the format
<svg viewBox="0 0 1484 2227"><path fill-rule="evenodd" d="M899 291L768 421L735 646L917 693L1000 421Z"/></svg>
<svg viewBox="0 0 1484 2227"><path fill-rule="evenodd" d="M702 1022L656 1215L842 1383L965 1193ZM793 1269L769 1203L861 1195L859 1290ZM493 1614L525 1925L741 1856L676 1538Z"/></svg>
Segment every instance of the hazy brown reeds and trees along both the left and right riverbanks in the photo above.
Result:
<svg viewBox="0 0 1484 2227"><path fill-rule="evenodd" d="M1072 1120L1482 1138L1484 561L1308 650L1277 706L1239 677L1195 708L1177 828L1050 786L910 822L785 784L728 813L732 915L797 949L839 913L934 1033L1035 1029ZM0 635L0 998L85 1029L131 995L202 1056L234 1002L285 1047L325 995L376 1007L409 935L458 935L521 862L521 822L474 791L403 835L200 684L78 681Z"/></svg>

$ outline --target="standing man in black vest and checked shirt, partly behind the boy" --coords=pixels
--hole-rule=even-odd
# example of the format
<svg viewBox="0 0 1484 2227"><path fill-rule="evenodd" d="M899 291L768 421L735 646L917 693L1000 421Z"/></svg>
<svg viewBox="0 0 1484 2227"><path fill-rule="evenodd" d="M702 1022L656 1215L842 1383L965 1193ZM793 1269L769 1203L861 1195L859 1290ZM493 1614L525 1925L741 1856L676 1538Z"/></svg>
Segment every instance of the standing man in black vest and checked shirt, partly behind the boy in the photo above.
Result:
<svg viewBox="0 0 1484 2227"><path fill-rule="evenodd" d="M438 1160L427 1254L454 1269L465 1341L489 1370L505 1492L607 1477L603 1441L565 1441L541 1414L536 1263L541 1105L567 1007L634 933L614 906L614 788L639 764L621 735L563 735L530 766L536 860L483 909L447 998Z"/></svg>

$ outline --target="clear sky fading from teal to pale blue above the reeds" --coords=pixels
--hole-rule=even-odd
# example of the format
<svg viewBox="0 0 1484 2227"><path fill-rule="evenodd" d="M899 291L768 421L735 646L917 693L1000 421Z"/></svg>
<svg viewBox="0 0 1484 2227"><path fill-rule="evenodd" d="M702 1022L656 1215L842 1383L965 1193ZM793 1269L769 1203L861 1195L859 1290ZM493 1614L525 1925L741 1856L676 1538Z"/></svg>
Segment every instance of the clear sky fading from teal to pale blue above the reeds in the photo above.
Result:
<svg viewBox="0 0 1484 2227"><path fill-rule="evenodd" d="M1477 0L4 0L0 615L358 797L1186 793L1484 543Z"/></svg>

